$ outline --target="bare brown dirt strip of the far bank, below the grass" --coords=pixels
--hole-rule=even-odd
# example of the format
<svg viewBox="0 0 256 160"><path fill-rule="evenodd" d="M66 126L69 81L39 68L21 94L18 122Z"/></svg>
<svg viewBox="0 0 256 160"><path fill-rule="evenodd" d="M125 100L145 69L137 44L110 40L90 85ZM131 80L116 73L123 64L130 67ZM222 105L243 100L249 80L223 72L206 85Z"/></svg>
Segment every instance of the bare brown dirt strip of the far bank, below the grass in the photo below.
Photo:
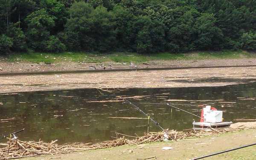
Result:
<svg viewBox="0 0 256 160"><path fill-rule="evenodd" d="M32 62L9 62L0 60L0 73L8 72L44 72L44 71L69 71L69 70L102 70L127 69L127 68L165 68L165 67L207 67L207 66L234 66L256 65L255 58L241 59L209 59L209 60L170 60L148 61L145 63L129 62L56 62L52 64Z"/></svg>

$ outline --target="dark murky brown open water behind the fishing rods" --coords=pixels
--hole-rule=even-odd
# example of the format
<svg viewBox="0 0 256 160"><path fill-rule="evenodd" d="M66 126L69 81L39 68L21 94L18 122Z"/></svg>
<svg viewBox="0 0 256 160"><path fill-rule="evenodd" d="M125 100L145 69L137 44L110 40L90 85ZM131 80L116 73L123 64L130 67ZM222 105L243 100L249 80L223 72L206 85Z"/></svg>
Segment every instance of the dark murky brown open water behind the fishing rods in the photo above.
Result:
<svg viewBox="0 0 256 160"><path fill-rule="evenodd" d="M139 103L167 103L165 100L172 99L170 103L174 106L196 115L201 113L201 108L196 105L207 104L224 111L225 121L256 119L256 83L224 87L40 91L0 95L0 134L25 128L17 134L22 140L58 139L58 143L97 143L111 140L116 137L116 132L143 135L147 131L147 119L109 118L145 118L131 105L119 101L93 102L116 100L120 96L130 97L131 102L137 103L163 128L192 128L192 122L199 118L165 104ZM160 131L152 122L149 130ZM0 143L5 141L0 140Z"/></svg>

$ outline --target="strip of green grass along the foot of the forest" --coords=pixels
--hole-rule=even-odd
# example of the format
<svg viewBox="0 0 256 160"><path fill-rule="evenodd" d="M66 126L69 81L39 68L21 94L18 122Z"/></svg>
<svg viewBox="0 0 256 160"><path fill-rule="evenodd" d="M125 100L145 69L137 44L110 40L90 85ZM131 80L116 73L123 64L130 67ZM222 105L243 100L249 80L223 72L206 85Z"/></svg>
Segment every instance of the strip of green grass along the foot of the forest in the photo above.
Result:
<svg viewBox="0 0 256 160"><path fill-rule="evenodd" d="M204 60L204 59L239 59L256 58L256 55L246 51L218 51L218 52L190 52L173 54L169 52L141 55L133 52L89 53L89 52L63 52L42 53L24 52L14 53L7 57L7 61L28 61L33 63L56 63L64 61L73 62L147 62L161 60Z"/></svg>

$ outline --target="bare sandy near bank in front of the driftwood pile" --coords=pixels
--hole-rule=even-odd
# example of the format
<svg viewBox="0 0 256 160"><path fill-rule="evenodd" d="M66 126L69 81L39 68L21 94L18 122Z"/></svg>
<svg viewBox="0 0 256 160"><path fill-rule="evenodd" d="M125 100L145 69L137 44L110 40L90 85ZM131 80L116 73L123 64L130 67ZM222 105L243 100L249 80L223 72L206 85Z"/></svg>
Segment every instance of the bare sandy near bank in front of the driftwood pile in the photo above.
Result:
<svg viewBox="0 0 256 160"><path fill-rule="evenodd" d="M211 137L202 137L195 140L149 143L134 146L126 145L72 154L25 158L24 160L136 160L137 158L147 157L157 157L157 160L189 160L205 154L255 143L255 141L256 130L247 130ZM173 149L162 150L163 147L167 146ZM208 157L204 160L255 160L255 149L256 146L251 146Z"/></svg>

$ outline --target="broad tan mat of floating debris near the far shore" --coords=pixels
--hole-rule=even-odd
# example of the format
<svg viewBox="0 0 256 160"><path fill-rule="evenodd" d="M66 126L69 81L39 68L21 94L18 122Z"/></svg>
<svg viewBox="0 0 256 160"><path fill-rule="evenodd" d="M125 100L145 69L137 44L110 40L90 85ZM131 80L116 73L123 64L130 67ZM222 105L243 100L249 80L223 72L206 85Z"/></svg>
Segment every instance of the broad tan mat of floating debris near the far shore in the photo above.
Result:
<svg viewBox="0 0 256 160"><path fill-rule="evenodd" d="M205 87L256 80L256 67L0 76L0 93L76 88Z"/></svg>

